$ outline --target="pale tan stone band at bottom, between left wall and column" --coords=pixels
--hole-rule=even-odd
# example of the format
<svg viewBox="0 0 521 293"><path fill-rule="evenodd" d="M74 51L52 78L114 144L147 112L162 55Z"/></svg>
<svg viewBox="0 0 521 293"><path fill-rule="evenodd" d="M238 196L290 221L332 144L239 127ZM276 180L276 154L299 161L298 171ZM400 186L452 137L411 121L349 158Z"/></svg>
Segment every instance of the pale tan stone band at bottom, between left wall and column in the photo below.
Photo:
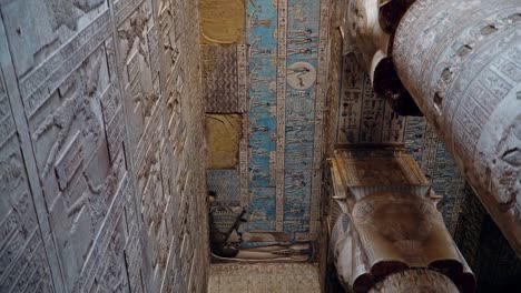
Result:
<svg viewBox="0 0 521 293"><path fill-rule="evenodd" d="M320 293L313 264L213 264L208 293Z"/></svg>

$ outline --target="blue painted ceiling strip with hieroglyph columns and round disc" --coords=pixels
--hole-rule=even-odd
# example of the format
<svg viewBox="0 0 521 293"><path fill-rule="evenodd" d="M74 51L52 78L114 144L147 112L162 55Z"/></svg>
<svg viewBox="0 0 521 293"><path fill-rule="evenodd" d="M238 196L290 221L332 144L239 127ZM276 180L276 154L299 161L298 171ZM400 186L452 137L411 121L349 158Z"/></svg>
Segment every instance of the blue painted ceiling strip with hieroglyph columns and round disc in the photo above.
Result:
<svg viewBox="0 0 521 293"><path fill-rule="evenodd" d="M322 12L320 3L304 0L247 1L246 6L249 46L248 131L243 133L248 135L249 144L249 194L243 193L249 206L246 230L298 231L303 233L298 238L313 238L304 233L309 232L312 221L312 181L318 194L322 180L320 170L311 171L314 154L322 152L322 142L314 144L309 138L322 135L323 128L323 119L315 120L315 115L323 114L326 88L321 87L327 85L315 85L321 78L316 69L327 70L328 3L323 3ZM321 32L323 24L326 28ZM315 99L317 91L324 99ZM317 158L318 169L320 161ZM314 211L316 218L318 210Z"/></svg>

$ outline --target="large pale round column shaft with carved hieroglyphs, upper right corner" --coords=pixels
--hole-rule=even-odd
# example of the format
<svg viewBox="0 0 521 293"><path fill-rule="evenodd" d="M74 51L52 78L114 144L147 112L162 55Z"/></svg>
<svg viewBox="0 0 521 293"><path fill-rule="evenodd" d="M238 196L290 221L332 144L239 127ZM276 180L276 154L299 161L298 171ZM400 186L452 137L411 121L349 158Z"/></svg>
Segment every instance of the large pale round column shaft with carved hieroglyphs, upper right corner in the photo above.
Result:
<svg viewBox="0 0 521 293"><path fill-rule="evenodd" d="M419 0L400 22L392 55L521 254L521 2Z"/></svg>

